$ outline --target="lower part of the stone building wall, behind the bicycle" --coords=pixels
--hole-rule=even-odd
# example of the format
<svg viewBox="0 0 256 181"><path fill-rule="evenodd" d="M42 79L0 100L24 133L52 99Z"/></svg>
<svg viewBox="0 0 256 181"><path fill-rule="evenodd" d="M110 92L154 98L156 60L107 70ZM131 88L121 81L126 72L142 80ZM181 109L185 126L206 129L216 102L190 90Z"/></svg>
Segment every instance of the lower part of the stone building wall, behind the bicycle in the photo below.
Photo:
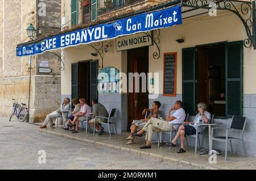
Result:
<svg viewBox="0 0 256 181"><path fill-rule="evenodd" d="M1 117L9 117L13 100L28 107L29 77L0 79ZM60 107L60 76L31 77L30 122L43 121L46 115Z"/></svg>

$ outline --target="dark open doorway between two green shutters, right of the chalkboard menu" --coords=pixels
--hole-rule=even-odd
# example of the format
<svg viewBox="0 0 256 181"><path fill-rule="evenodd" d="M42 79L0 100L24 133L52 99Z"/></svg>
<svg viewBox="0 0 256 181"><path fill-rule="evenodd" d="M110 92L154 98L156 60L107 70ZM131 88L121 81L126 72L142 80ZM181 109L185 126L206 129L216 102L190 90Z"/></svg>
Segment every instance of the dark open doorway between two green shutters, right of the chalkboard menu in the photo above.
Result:
<svg viewBox="0 0 256 181"><path fill-rule="evenodd" d="M225 44L197 48L197 103L206 103L214 117L225 117L225 67Z"/></svg>

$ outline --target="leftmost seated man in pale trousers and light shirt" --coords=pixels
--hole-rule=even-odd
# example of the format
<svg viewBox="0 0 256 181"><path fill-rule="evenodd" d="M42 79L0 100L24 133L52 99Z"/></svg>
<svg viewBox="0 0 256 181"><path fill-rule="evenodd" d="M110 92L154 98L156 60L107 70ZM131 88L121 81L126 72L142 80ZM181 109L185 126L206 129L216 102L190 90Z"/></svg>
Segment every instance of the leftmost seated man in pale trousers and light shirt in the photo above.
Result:
<svg viewBox="0 0 256 181"><path fill-rule="evenodd" d="M52 113L49 113L47 116L46 116L46 119L44 120L44 124L42 125L42 127L40 128L47 128L47 124L49 122L51 122L51 126L55 125L55 124L52 124L52 119L53 118L56 118L58 116L58 113L61 113L61 112L65 112L65 111L69 111L70 109L70 99L69 98L65 98L63 103L61 104L60 106L60 109L52 112ZM63 121L64 121L64 117L63 117Z"/></svg>

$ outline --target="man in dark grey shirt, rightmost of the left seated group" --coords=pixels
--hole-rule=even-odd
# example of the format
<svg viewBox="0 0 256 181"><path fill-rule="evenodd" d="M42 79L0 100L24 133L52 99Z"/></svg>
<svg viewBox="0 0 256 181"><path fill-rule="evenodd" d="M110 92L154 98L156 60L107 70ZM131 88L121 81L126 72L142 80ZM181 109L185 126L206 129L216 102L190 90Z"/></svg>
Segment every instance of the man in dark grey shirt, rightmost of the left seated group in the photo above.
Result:
<svg viewBox="0 0 256 181"><path fill-rule="evenodd" d="M102 117L109 117L109 113L108 111L106 110L106 108L98 103L98 99L92 99L92 105L93 105L93 116L96 117L96 116L102 116ZM98 130L98 135L101 135L102 132L104 131L104 128L101 127L100 123L107 123L108 120L104 119L104 118L100 118L100 117L97 117L90 120L89 121L89 124L91 127L94 127L94 124L96 129Z"/></svg>

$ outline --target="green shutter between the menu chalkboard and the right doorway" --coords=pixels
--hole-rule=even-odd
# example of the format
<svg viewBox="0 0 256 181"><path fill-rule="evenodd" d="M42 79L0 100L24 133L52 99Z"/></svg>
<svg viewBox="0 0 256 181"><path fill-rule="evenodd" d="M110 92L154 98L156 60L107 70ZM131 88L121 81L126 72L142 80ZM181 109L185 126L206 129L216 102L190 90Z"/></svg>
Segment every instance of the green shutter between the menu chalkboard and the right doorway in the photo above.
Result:
<svg viewBox="0 0 256 181"><path fill-rule="evenodd" d="M196 113L196 48L182 49L182 102L189 115Z"/></svg>

